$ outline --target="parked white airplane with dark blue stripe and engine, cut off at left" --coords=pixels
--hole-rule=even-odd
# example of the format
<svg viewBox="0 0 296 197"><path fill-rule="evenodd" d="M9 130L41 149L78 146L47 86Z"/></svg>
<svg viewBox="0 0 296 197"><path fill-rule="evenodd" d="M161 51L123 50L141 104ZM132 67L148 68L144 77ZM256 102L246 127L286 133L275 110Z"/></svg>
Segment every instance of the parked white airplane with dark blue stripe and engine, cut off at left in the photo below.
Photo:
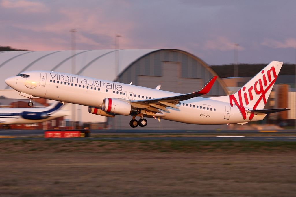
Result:
<svg viewBox="0 0 296 197"><path fill-rule="evenodd" d="M44 108L0 108L0 125L33 124L70 115L69 111L60 109L62 106L56 101Z"/></svg>

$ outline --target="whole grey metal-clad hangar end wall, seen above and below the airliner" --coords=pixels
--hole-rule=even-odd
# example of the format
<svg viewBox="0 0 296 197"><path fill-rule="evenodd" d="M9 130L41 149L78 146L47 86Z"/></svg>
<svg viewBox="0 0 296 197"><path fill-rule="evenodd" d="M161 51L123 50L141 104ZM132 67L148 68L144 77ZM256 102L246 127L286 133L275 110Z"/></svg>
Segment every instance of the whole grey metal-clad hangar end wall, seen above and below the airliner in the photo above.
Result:
<svg viewBox="0 0 296 197"><path fill-rule="evenodd" d="M119 76L117 81L133 85L155 88L161 85L162 90L190 93L200 90L215 72L200 58L177 49L160 49L146 54L131 63ZM207 96L227 95L224 82L217 78ZM188 116L197 116L188 114ZM139 117L138 117L139 118ZM137 119L138 119L137 118ZM198 118L198 116L197 116ZM131 116L115 116L108 122L115 129L129 129ZM148 118L148 125L143 129L207 129L206 125L192 125L173 121ZM210 126L211 129L221 126Z"/></svg>

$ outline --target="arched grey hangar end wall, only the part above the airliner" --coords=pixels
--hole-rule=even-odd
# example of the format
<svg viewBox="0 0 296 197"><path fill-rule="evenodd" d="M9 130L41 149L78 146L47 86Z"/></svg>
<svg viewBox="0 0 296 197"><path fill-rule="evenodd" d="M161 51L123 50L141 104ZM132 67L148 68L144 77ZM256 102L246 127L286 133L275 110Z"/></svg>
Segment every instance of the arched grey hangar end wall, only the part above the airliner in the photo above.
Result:
<svg viewBox="0 0 296 197"><path fill-rule="evenodd" d="M178 49L159 49L149 52L128 65L116 81L163 90L189 93L201 89L217 76L199 57ZM228 94L225 83L218 77L208 95ZM187 92L186 92L187 91Z"/></svg>

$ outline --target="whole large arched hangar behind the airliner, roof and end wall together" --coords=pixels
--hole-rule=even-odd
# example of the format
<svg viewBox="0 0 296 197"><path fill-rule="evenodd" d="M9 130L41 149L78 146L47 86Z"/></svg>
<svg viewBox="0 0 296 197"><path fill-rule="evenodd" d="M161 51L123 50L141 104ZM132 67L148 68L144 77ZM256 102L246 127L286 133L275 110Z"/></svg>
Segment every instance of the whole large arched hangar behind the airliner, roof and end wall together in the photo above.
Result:
<svg viewBox="0 0 296 197"><path fill-rule="evenodd" d="M47 70L72 73L121 83L162 90L190 93L200 90L215 72L200 58L178 49L110 49L77 51L22 51L0 52L0 96L23 98L4 83L4 79L29 70ZM119 74L118 74L119 73ZM227 95L228 89L217 79L207 96ZM87 99L87 95L86 99ZM71 106L67 106L70 110ZM197 114L188 114L197 116ZM198 116L197 116L198 118ZM87 106L75 106L75 116L68 121L108 121L112 128L129 129L131 116L106 118L88 113ZM148 119L145 129L213 129L213 126L190 125ZM218 128L218 127L217 127ZM221 126L219 126L221 128Z"/></svg>

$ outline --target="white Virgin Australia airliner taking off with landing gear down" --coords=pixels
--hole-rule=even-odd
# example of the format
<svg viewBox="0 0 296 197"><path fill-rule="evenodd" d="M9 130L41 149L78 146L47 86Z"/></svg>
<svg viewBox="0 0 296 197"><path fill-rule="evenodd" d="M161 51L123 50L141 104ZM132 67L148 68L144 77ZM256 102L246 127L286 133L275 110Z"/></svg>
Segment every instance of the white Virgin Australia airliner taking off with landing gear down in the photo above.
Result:
<svg viewBox="0 0 296 197"><path fill-rule="evenodd" d="M146 126L144 117L190 124L245 124L288 110L263 109L282 64L271 62L233 95L210 98L200 96L210 91L217 76L200 91L189 94L49 71L26 71L5 83L28 98L86 105L90 113L101 116L131 115L131 127Z"/></svg>

